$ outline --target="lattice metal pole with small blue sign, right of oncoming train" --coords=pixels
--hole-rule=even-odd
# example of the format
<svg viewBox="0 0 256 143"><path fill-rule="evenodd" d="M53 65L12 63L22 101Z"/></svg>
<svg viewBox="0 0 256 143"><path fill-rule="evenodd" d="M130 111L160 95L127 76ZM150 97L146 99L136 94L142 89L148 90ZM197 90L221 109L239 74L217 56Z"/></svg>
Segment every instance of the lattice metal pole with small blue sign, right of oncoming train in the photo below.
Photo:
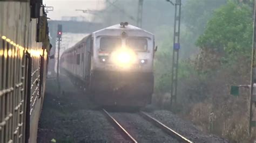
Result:
<svg viewBox="0 0 256 143"><path fill-rule="evenodd" d="M179 67L179 49L180 49L180 16L181 16L181 0L176 0L174 4L170 0L166 0L175 5L174 15L174 31L173 31L173 55L172 55L172 78L171 78L171 106L176 103L177 86L178 86L178 67Z"/></svg>

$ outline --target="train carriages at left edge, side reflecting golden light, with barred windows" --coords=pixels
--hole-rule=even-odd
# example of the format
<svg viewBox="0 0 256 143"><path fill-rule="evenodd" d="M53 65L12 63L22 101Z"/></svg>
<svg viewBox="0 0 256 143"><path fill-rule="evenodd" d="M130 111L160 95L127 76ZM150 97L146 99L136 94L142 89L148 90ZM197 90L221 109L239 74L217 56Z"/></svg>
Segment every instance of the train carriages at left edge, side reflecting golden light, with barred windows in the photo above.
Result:
<svg viewBox="0 0 256 143"><path fill-rule="evenodd" d="M42 0L0 1L0 142L36 142L49 51Z"/></svg>

